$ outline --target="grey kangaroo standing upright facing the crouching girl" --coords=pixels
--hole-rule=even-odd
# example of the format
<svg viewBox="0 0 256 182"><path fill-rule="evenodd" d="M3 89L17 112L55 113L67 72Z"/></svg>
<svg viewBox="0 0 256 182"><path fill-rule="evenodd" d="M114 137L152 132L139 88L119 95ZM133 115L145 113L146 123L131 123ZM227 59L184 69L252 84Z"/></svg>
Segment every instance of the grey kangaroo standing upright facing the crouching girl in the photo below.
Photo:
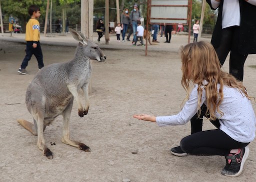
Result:
<svg viewBox="0 0 256 182"><path fill-rule="evenodd" d="M79 117L88 113L90 59L99 62L106 59L97 44L71 28L68 30L73 38L79 41L74 58L69 62L50 64L37 72L27 87L25 96L26 107L33 117L33 124L26 120L17 120L21 126L37 136L37 147L48 159L52 159L53 155L44 143L43 131L59 115L63 116L61 141L85 152L90 151L85 144L69 139L70 114L73 99L77 102ZM78 98L79 89L83 90L85 96L84 108Z"/></svg>

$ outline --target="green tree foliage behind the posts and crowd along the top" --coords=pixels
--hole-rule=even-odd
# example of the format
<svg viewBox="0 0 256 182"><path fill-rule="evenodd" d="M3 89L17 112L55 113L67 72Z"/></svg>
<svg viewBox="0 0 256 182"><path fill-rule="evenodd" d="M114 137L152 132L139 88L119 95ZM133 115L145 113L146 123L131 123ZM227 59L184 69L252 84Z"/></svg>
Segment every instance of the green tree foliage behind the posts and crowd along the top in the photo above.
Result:
<svg viewBox="0 0 256 182"><path fill-rule="evenodd" d="M81 0L52 0L52 23L54 24L58 18L62 20L62 9L64 8L69 24L80 24L80 2ZM93 0L93 2L95 19L103 18L105 16L105 0ZM119 0L120 14L124 8L132 10L134 3L143 5L142 12L140 12L146 18L146 0ZM13 17L19 19L19 24L24 28L25 23L29 19L27 9L31 4L36 4L40 7L41 16L39 22L43 24L47 0L1 0L2 13L4 15L3 21L7 23L9 15L12 14ZM200 19L201 5L202 0L192 0L192 19ZM211 10L209 5L206 4L203 26L213 29L216 12ZM109 21L116 21L116 0L109 0Z"/></svg>

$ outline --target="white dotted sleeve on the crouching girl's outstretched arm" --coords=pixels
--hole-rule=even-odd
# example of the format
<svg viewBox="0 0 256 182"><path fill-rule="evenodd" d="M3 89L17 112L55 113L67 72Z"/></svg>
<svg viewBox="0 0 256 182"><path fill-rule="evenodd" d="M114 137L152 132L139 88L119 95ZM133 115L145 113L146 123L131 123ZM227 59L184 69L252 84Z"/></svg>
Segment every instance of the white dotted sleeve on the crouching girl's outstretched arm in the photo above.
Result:
<svg viewBox="0 0 256 182"><path fill-rule="evenodd" d="M157 116L156 123L158 126L175 126L186 124L197 113L197 88L195 86L189 95L189 99L185 102L181 111L172 116ZM201 104L205 101L205 90L203 89Z"/></svg>

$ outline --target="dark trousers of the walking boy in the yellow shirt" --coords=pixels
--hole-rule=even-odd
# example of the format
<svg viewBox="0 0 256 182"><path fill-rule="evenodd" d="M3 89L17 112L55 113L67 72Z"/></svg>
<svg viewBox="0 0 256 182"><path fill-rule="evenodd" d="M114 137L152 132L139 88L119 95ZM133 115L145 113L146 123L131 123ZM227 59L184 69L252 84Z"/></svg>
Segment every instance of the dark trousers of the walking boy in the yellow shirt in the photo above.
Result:
<svg viewBox="0 0 256 182"><path fill-rule="evenodd" d="M37 63L38 63L38 68L41 69L43 67L43 60L42 60L42 50L40 43L37 43L36 48L32 47L33 41L27 41L26 42L26 55L20 65L21 69L25 69L26 66L28 65L28 61L31 59L32 55L35 56Z"/></svg>

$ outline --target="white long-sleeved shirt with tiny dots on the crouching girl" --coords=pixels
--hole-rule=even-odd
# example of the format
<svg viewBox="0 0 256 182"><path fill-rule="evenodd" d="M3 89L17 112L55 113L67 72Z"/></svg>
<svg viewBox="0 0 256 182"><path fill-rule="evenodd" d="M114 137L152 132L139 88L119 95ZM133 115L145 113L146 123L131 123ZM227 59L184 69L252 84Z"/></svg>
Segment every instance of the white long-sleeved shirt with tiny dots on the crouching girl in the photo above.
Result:
<svg viewBox="0 0 256 182"><path fill-rule="evenodd" d="M156 122L158 126L174 126L186 124L197 113L197 88L195 84L191 90L188 100L185 102L181 111L172 116L158 116ZM219 89L219 84L218 84ZM201 104L206 105L205 90L202 91ZM215 112L219 119L219 129L225 132L232 139L248 143L255 137L255 114L248 100L236 88L223 86L223 100L219 106L223 116Z"/></svg>

